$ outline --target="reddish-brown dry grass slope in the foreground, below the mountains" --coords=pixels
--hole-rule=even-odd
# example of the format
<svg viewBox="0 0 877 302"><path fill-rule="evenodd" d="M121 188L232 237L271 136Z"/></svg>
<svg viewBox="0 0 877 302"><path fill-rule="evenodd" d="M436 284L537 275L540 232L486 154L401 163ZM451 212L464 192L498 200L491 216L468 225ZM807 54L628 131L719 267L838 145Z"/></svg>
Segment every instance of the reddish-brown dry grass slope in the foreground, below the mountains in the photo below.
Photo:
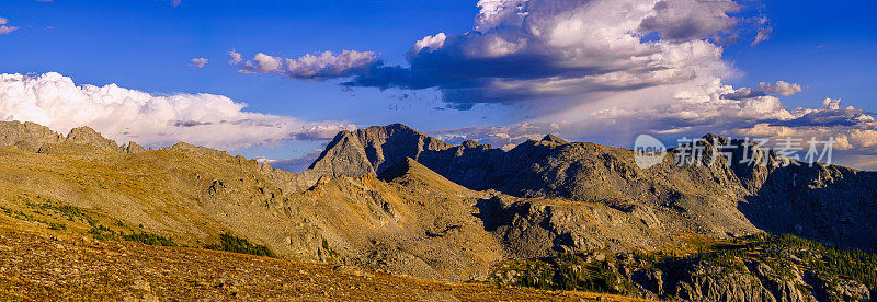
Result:
<svg viewBox="0 0 877 302"><path fill-rule="evenodd" d="M9 300L636 301L32 233L0 222L5 224L0 226L0 299Z"/></svg>

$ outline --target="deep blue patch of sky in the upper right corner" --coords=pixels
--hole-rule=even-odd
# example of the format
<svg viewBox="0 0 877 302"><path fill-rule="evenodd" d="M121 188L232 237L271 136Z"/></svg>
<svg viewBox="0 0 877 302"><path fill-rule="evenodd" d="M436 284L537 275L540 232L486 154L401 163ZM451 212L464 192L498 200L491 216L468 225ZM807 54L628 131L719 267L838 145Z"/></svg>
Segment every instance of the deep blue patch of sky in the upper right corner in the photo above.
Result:
<svg viewBox="0 0 877 302"><path fill-rule="evenodd" d="M736 84L786 80L810 86L786 98L810 106L824 97L877 109L877 21L873 1L764 1L774 25L768 42L730 46L725 56L745 72Z"/></svg>

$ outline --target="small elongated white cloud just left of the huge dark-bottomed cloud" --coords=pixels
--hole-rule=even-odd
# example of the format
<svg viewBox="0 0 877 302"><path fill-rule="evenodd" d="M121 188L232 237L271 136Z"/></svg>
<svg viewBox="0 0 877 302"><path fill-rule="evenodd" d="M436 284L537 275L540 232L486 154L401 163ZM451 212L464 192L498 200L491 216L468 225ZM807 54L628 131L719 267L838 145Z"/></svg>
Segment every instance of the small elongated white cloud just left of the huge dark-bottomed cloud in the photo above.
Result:
<svg viewBox="0 0 877 302"><path fill-rule="evenodd" d="M230 62L243 73L273 73L298 80L328 80L346 78L379 63L375 53L344 50L335 55L324 51L305 55L297 59L273 57L262 53L244 61L240 54L229 53Z"/></svg>

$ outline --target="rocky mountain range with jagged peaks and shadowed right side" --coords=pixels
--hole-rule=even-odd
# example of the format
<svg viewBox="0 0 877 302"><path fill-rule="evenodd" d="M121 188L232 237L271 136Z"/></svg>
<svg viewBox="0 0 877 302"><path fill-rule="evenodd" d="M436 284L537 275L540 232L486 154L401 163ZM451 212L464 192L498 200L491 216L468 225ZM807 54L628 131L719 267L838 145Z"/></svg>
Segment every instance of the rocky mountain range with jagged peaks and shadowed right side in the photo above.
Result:
<svg viewBox="0 0 877 302"><path fill-rule="evenodd" d="M745 143L699 143L714 140ZM782 300L790 288L804 300L866 299L874 291L868 266L831 270L843 266L801 258L816 245L774 248L779 243L758 237L795 234L875 252L877 175L836 165L719 156L677 166L668 155L642 170L620 148L546 136L503 151L448 144L398 124L340 132L300 174L186 143L118 146L84 127L62 136L0 123L0 222L14 228L660 299ZM785 160L768 153L770 162ZM52 210L61 207L88 219ZM743 247L709 254L727 249L720 246ZM872 254L855 255L864 265ZM617 257L624 262L606 260ZM797 270L783 269L785 260Z"/></svg>

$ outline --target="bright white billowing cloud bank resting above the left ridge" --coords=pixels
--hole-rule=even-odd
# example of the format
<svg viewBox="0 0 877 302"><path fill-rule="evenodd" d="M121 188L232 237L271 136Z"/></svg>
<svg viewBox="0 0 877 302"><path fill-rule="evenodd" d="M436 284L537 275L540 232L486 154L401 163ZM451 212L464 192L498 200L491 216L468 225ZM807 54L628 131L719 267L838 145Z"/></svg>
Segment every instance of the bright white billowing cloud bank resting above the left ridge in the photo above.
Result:
<svg viewBox="0 0 877 302"><path fill-rule="evenodd" d="M118 88L76 85L49 72L0 74L0 120L29 120L67 133L90 126L118 142L163 146L186 141L223 150L294 139L329 139L315 129L346 129L340 123L307 123L288 116L244 112L246 104L214 94L152 95Z"/></svg>

